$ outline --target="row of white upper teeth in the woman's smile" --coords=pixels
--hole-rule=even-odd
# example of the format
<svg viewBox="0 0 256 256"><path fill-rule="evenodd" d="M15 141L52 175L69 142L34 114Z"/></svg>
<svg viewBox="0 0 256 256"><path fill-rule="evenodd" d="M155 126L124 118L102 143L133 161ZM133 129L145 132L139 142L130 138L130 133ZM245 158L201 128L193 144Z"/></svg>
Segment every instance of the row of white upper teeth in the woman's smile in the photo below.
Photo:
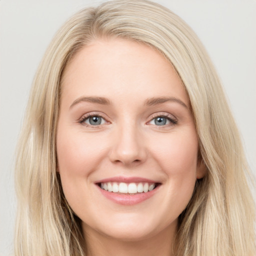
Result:
<svg viewBox="0 0 256 256"><path fill-rule="evenodd" d="M139 183L124 183L124 182L101 182L100 187L108 192L114 193L146 193L155 188L155 183L139 182Z"/></svg>

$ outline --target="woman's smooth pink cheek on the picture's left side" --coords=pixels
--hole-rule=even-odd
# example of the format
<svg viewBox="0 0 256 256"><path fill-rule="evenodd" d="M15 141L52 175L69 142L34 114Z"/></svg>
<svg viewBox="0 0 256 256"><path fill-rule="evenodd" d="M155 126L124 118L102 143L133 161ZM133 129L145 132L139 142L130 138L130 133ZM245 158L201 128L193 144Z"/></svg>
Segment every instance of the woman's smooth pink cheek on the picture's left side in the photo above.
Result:
<svg viewBox="0 0 256 256"><path fill-rule="evenodd" d="M73 210L79 208L83 201L81 194L88 195L90 173L101 162L102 149L99 139L85 136L83 132L59 129L56 139L58 170L64 195Z"/></svg>

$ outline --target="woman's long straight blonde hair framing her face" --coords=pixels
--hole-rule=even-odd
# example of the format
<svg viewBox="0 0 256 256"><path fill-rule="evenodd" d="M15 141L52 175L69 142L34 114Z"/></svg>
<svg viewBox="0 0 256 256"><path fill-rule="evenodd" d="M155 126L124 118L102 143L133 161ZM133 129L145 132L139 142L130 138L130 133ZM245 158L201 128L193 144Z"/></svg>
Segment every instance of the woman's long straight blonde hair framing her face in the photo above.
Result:
<svg viewBox="0 0 256 256"><path fill-rule="evenodd" d="M58 31L35 75L18 143L15 255L85 254L80 220L65 201L56 172L61 74L96 38L148 44L174 66L190 98L207 174L180 214L175 255L256 255L255 207L239 134L215 69L194 32L163 6L109 1L73 15Z"/></svg>

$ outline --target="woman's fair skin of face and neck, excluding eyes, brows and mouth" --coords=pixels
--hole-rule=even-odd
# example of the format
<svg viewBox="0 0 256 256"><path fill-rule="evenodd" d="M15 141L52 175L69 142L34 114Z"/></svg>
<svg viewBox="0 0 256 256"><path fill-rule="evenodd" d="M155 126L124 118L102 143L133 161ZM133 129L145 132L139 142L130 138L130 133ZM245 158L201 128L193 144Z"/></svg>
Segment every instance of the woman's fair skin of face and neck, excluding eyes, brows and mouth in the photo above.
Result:
<svg viewBox="0 0 256 256"><path fill-rule="evenodd" d="M104 38L76 53L62 78L58 171L82 220L88 255L172 255L177 217L204 175L189 98L172 65L145 44ZM77 102L88 96L111 104ZM185 106L177 100L145 105L148 98L166 96ZM84 120L88 113L102 116L101 124ZM176 123L155 124L162 115ZM147 200L121 205L95 185L113 176L161 185Z"/></svg>

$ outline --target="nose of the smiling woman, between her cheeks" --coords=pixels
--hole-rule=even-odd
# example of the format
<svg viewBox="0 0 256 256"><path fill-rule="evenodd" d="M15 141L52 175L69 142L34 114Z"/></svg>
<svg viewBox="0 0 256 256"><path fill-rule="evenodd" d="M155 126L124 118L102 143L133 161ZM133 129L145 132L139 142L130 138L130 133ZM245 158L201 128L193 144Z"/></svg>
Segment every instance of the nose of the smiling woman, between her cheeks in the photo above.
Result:
<svg viewBox="0 0 256 256"><path fill-rule="evenodd" d="M114 163L134 165L146 160L146 145L135 125L122 126L112 136L109 158Z"/></svg>

